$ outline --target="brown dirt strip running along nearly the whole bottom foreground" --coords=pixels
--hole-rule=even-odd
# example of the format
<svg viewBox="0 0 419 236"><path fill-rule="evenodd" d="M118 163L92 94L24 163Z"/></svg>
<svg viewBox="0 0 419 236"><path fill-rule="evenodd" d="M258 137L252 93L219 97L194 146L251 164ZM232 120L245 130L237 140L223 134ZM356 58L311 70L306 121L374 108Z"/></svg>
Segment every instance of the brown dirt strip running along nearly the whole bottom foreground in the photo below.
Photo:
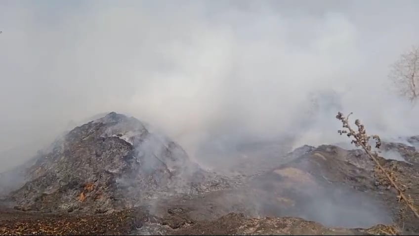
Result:
<svg viewBox="0 0 419 236"><path fill-rule="evenodd" d="M371 229L327 228L301 218L246 218L230 213L210 221L185 217L171 208L163 218L142 209L107 215L53 215L1 210L0 235L387 235L387 226ZM391 232L391 229L390 229Z"/></svg>

